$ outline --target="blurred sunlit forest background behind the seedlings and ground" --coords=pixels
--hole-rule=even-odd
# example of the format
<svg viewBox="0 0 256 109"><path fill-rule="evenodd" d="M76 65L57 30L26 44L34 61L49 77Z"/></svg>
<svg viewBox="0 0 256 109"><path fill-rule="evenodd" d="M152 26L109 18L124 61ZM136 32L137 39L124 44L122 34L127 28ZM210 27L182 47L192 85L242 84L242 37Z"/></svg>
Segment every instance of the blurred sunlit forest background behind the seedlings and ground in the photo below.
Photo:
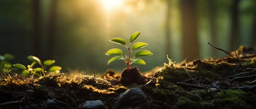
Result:
<svg viewBox="0 0 256 109"><path fill-rule="evenodd" d="M104 54L124 47L109 39L136 31L153 53L142 57L141 72L163 66L167 54L176 63L217 59L226 54L207 42L256 47L256 0L0 0L0 55L14 54L12 64L34 55L56 60L62 72L120 72L125 63L107 65Z"/></svg>

